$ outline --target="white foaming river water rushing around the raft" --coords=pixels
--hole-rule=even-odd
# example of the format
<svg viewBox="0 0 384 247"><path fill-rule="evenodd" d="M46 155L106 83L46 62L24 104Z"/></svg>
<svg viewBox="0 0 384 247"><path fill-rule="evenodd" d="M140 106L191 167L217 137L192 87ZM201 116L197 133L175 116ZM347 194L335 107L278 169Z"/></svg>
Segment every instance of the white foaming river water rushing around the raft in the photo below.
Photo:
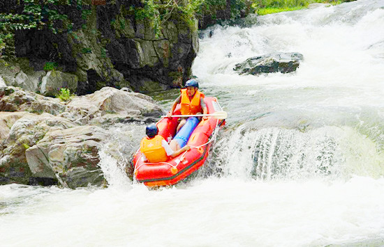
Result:
<svg viewBox="0 0 384 247"><path fill-rule="evenodd" d="M107 189L0 186L1 246L384 246L384 1L201 35L193 74L228 112L205 166L149 190L101 152ZM292 74L232 70L269 52L304 61ZM168 109L176 95L154 97ZM112 132L128 161L137 146L124 140L144 127Z"/></svg>

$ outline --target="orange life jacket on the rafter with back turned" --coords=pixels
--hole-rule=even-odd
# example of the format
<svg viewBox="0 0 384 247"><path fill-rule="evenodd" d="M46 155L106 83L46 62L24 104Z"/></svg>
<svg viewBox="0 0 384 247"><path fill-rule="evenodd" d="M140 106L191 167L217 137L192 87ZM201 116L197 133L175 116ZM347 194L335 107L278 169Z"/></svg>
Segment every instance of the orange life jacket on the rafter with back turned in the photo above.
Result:
<svg viewBox="0 0 384 247"><path fill-rule="evenodd" d="M167 161L168 155L161 145L162 140L164 140L164 138L160 135L157 135L154 138L142 138L140 152L145 154L145 157L147 157L149 162L156 163Z"/></svg>

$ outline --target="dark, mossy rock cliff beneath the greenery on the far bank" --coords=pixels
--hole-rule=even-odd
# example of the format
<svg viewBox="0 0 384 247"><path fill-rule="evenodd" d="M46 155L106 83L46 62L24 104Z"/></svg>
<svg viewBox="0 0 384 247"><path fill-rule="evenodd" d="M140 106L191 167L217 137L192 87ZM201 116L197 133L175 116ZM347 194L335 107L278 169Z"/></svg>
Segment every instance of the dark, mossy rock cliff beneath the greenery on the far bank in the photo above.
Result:
<svg viewBox="0 0 384 247"><path fill-rule="evenodd" d="M4 8L12 8L8 1ZM78 95L94 93L104 86L128 86L140 92L182 86L198 52L197 22L190 26L180 19L168 19L156 34L147 19L135 18L130 10L135 5L142 3L115 0L104 6L84 3L78 9L73 3L61 8L73 24L71 29L58 26L64 31L57 34L50 29L17 31L16 56L28 58L34 70L43 70L47 62L57 62L62 72L77 78L67 82ZM17 73L3 78L9 81L8 86L21 86L20 81L31 79L27 73L28 78L20 74L15 81ZM45 95L52 95L57 86L65 86L50 81L52 74L46 77L40 89ZM50 85L52 90L48 89Z"/></svg>

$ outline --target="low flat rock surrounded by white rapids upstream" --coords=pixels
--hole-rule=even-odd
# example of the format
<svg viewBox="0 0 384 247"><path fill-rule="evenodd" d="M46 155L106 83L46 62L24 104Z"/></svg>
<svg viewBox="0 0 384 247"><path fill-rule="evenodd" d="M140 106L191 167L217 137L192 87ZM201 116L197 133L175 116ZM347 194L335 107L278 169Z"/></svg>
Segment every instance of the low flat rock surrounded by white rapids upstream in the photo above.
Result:
<svg viewBox="0 0 384 247"><path fill-rule="evenodd" d="M276 53L263 56L254 56L242 63L235 65L233 70L239 74L261 74L261 73L289 73L294 72L300 65L303 56L300 53Z"/></svg>

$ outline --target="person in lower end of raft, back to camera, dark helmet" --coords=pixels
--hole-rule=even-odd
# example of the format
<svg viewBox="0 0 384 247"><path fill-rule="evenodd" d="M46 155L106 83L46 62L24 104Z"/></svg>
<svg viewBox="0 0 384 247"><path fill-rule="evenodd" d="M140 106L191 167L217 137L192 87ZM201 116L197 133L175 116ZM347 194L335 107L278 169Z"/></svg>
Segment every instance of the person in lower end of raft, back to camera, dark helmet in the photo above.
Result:
<svg viewBox="0 0 384 247"><path fill-rule="evenodd" d="M164 162L168 160L168 157L175 158L177 155L190 149L189 146L185 146L178 150L172 150L163 136L158 135L156 124L148 125L145 129L145 134L147 134L147 137L142 138L140 144L140 152L144 161L151 163ZM172 146L176 147L177 145Z"/></svg>

